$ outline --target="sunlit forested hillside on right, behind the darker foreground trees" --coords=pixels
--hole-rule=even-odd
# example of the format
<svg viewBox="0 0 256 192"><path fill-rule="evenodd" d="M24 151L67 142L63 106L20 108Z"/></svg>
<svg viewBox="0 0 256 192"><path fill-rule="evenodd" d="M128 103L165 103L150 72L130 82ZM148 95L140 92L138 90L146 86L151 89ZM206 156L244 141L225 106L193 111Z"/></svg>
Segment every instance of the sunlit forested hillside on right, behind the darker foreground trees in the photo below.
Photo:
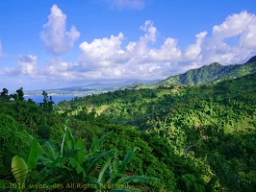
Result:
<svg viewBox="0 0 256 192"><path fill-rule="evenodd" d="M171 171L173 175L171 179L170 175L162 177L162 183L175 183L173 188L166 186L166 191L254 191L256 187L256 73L217 84L127 88L55 106L58 111L64 108L70 117L82 120L92 114L94 124L109 122L102 124L104 128L132 128L130 133L115 130L109 145L138 145L135 131L146 135L140 136L144 142L156 142L150 147L158 162L143 154L142 163L137 159L131 171L141 170L144 164L150 167L142 167L148 176L162 177L163 172L155 175L152 170L163 163L159 170L166 167L165 173ZM157 145L161 139L171 153L163 143ZM186 163L197 171L185 169Z"/></svg>

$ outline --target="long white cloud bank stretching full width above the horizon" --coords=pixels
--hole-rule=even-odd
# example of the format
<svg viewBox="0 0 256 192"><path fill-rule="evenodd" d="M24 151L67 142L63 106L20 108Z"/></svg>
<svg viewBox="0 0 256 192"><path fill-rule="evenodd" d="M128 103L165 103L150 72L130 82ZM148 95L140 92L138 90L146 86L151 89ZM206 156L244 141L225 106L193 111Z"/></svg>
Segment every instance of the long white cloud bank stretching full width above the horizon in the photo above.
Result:
<svg viewBox="0 0 256 192"><path fill-rule="evenodd" d="M59 14L63 15L61 11ZM164 79L215 61L244 63L256 55L256 15L248 12L229 15L212 31L199 32L194 43L183 50L176 38L159 39L160 32L151 20L146 20L140 30L143 34L129 42L122 33L84 41L79 45L78 59L72 62L48 60L38 68L36 56L20 56L16 68L5 68L0 74L21 74L59 86L103 80ZM65 29L62 31L65 34Z"/></svg>

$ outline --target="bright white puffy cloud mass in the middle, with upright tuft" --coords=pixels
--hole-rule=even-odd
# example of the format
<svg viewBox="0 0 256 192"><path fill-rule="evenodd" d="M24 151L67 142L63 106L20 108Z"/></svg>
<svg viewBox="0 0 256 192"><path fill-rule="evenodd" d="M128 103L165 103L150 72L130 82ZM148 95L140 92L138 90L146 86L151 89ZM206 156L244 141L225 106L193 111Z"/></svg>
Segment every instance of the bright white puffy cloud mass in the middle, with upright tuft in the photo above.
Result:
<svg viewBox="0 0 256 192"><path fill-rule="evenodd" d="M140 29L144 35L138 41L130 41L125 47L122 47L125 38L122 33L96 38L91 42L84 41L79 45L81 54L78 62L52 60L42 74L69 78L70 81L130 79L138 78L139 74L141 78L152 76L155 72L160 72L159 63L154 63L156 60L164 60L161 57L166 57L167 60L170 56L179 54L179 51L175 48L176 41L171 38L166 39L161 50L149 49L148 44L156 41L157 29L152 21L145 21ZM164 56L168 51L170 54Z"/></svg>

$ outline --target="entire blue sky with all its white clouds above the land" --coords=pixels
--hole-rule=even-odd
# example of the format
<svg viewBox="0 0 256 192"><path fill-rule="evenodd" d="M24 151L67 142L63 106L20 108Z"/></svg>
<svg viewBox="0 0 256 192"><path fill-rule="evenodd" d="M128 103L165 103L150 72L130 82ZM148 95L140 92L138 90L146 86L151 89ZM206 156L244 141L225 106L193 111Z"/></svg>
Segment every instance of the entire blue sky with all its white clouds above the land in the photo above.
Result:
<svg viewBox="0 0 256 192"><path fill-rule="evenodd" d="M1 0L0 88L165 79L256 55L253 0Z"/></svg>

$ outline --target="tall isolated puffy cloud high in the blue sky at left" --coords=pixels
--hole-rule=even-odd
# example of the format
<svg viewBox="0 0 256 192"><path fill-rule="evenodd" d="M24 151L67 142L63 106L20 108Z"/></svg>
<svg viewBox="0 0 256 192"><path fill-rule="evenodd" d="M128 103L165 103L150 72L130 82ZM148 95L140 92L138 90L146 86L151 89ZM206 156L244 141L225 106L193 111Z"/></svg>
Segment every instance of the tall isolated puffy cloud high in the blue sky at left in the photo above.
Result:
<svg viewBox="0 0 256 192"><path fill-rule="evenodd" d="M51 14L48 16L48 22L43 25L43 31L39 34L46 50L52 54L68 52L80 36L74 26L66 31L65 19L66 15L57 5L53 5Z"/></svg>

